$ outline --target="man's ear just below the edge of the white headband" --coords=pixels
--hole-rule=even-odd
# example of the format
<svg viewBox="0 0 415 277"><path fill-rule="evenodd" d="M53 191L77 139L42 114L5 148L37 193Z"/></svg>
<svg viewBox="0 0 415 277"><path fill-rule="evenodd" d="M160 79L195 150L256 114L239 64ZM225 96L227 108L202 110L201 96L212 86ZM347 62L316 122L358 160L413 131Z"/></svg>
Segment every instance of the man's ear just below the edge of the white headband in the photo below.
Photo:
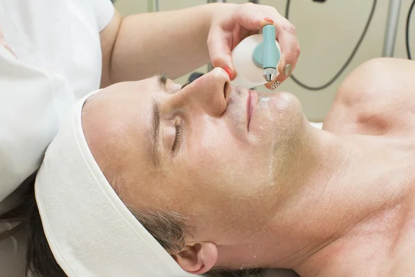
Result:
<svg viewBox="0 0 415 277"><path fill-rule="evenodd" d="M212 269L218 259L218 249L212 242L196 242L185 245L173 258L183 270L199 275Z"/></svg>

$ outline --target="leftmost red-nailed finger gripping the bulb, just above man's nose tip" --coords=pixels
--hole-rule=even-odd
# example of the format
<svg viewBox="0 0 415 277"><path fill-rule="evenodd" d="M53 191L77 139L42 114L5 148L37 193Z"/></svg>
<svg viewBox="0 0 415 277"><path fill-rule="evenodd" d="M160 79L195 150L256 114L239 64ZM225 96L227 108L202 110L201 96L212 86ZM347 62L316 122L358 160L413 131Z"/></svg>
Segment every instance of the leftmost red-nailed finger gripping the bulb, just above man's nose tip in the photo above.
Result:
<svg viewBox="0 0 415 277"><path fill-rule="evenodd" d="M212 66L223 68L228 73L230 80L233 81L237 76L231 56L232 33L219 26L212 26L207 43Z"/></svg>

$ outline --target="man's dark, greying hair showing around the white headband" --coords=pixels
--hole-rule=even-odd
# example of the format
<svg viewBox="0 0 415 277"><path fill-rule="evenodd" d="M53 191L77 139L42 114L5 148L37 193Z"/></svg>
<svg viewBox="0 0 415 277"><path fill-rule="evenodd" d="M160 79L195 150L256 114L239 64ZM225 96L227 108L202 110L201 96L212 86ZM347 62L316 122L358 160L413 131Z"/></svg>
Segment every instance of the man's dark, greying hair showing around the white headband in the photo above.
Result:
<svg viewBox="0 0 415 277"><path fill-rule="evenodd" d="M35 174L30 176L28 180L27 189L22 195L20 204L10 209L6 213L0 215L0 222L20 222L14 230L17 230L21 227L24 227L26 233L26 242L27 242L27 250L26 250L26 277L33 276L33 277L67 277L62 268L59 266L55 257L50 250L48 245L48 240L46 240L46 236L44 233L44 229L42 226L42 220L40 219L39 209L37 208L37 203L35 200ZM155 218L151 218L149 221L151 223L142 222L142 220L146 220L148 216L138 214L138 211L131 211L136 217L140 219L142 225L144 225L147 230L160 242L160 244L165 247L167 251L169 248L172 247L171 243L166 242L166 236L160 238L158 236L160 230L163 230L163 226L157 228L158 224L154 224L154 220L158 220L160 216L153 215ZM162 215L162 217L168 216L167 214ZM181 218L179 217L178 220ZM181 229L181 222L178 222L175 218L169 218L166 222L171 222L173 220L173 233L174 239L176 242L183 240L180 232L177 230ZM177 222L176 222L176 221ZM158 229L158 230L156 230ZM156 230L156 231L154 231ZM165 229L164 229L165 230ZM179 234L179 235L178 235ZM1 240L1 233L0 233L0 240ZM212 269L206 274L203 274L205 277L246 277L248 274L252 274L249 276L259 277L262 276L261 269L245 269L245 270L230 270L230 269Z"/></svg>

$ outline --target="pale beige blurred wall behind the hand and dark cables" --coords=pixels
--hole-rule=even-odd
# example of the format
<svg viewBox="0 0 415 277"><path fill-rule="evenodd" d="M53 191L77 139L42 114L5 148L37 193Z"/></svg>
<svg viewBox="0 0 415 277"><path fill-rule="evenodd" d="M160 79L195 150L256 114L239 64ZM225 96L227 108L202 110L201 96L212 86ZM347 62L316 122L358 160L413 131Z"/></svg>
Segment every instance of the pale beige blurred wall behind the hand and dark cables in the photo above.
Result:
<svg viewBox="0 0 415 277"><path fill-rule="evenodd" d="M248 1L229 0L228 3L246 3ZM259 0L260 4L277 8L285 15L287 0ZM393 3L394 2L394 3ZM396 3L399 3L396 6ZM138 12L156 12L187 8L202 5L202 0L115 0L114 5L122 15L127 16ZM330 86L320 90L310 90L288 79L279 90L286 90L296 95L304 107L308 120L321 122L329 111L335 91L340 82L353 68L364 61L382 57L385 33L387 30L388 12L395 7L400 12L397 18L396 43L394 57L407 59L405 30L407 15L412 0L378 0L367 33L362 39L356 55L344 72ZM344 66L367 25L374 0L292 0L288 19L297 28L297 37L302 49L294 77L306 86L318 87L328 83ZM391 5L391 6L389 6ZM398 8L396 8L398 7ZM415 19L409 24L413 35L409 36L409 44L415 49ZM194 72L206 73L208 65L195 69L187 75L176 79L184 84ZM414 77L415 78L415 77ZM259 91L267 91L257 87ZM268 90L269 92L269 90Z"/></svg>

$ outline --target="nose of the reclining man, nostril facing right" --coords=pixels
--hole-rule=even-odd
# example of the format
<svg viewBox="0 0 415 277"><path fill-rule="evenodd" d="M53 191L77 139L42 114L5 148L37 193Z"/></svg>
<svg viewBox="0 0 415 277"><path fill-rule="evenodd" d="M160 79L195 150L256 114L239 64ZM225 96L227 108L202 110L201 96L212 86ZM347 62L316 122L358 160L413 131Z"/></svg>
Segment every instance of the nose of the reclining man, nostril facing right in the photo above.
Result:
<svg viewBox="0 0 415 277"><path fill-rule="evenodd" d="M230 95L230 79L222 68L214 68L172 95L172 108L212 117L223 114Z"/></svg>

